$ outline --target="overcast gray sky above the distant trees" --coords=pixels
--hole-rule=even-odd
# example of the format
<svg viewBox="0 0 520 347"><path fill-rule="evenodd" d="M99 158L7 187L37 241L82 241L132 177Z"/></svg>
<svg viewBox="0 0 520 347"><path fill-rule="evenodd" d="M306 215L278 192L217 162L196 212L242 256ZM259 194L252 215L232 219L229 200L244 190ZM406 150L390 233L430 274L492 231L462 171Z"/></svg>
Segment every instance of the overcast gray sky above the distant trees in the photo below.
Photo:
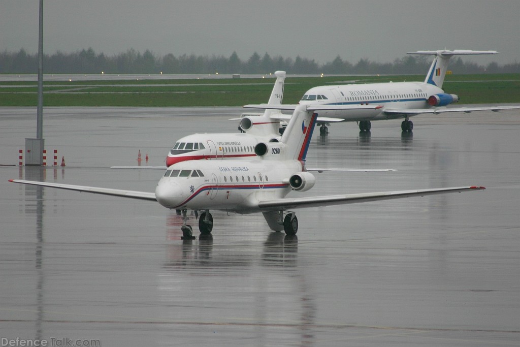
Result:
<svg viewBox="0 0 520 347"><path fill-rule="evenodd" d="M38 49L38 0L0 0L0 50ZM420 49L520 61L520 0L44 0L44 51L390 62Z"/></svg>

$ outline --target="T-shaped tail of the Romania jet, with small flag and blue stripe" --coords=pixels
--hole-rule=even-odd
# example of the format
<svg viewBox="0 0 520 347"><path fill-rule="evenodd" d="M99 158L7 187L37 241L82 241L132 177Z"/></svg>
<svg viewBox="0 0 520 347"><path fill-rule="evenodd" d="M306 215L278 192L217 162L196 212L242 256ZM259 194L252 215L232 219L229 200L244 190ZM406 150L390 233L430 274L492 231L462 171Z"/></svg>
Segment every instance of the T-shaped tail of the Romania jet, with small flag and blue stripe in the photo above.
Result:
<svg viewBox="0 0 520 347"><path fill-rule="evenodd" d="M448 61L454 55L473 55L473 54L497 54L496 50L419 50L418 52L408 52L407 54L427 54L434 55L430 71L426 75L424 83L433 84L439 88L443 87L446 71L448 71Z"/></svg>

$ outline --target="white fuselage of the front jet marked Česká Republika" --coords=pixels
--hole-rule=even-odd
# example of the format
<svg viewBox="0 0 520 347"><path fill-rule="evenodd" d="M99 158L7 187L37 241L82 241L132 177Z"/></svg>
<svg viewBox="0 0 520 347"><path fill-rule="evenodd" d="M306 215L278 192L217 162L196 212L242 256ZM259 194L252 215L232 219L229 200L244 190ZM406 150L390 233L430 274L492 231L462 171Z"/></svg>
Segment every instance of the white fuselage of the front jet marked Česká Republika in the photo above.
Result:
<svg viewBox="0 0 520 347"><path fill-rule="evenodd" d="M303 171L297 160L190 160L171 165L155 196L170 209L258 212L259 200L280 199L289 178Z"/></svg>

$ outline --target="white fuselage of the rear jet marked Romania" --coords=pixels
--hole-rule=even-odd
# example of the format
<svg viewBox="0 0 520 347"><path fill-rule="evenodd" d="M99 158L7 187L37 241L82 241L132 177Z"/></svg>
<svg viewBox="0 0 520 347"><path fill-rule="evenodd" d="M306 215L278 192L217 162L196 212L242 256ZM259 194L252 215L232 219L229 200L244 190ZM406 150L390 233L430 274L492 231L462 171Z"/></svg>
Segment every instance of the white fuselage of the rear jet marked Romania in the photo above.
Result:
<svg viewBox="0 0 520 347"><path fill-rule="evenodd" d="M439 93L443 93L441 88L423 82L345 84L311 88L305 93L300 104L375 104L383 106L376 110L324 110L319 112L322 117L339 117L346 121L370 121L402 118L400 115L385 114L385 109L432 108L428 105L428 97Z"/></svg>

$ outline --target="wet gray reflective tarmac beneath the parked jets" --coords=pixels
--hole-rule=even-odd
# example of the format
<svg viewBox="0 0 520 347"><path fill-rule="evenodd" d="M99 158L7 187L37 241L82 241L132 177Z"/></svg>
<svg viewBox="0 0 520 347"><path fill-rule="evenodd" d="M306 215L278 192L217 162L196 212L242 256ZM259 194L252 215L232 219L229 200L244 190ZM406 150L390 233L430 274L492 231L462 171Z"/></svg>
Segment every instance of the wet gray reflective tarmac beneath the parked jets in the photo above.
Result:
<svg viewBox="0 0 520 347"><path fill-rule="evenodd" d="M335 124L306 195L483 185L485 191L297 210L296 237L263 216L212 212L180 239L159 204L8 183L153 191L181 136L235 132L241 108L45 108L64 168L19 168L34 108L0 108L0 338L102 346L518 346L520 113ZM52 163L52 156L49 155ZM192 223L195 224L195 223ZM59 345L56 344L55 345ZM95 345L92 342L89 345Z"/></svg>

